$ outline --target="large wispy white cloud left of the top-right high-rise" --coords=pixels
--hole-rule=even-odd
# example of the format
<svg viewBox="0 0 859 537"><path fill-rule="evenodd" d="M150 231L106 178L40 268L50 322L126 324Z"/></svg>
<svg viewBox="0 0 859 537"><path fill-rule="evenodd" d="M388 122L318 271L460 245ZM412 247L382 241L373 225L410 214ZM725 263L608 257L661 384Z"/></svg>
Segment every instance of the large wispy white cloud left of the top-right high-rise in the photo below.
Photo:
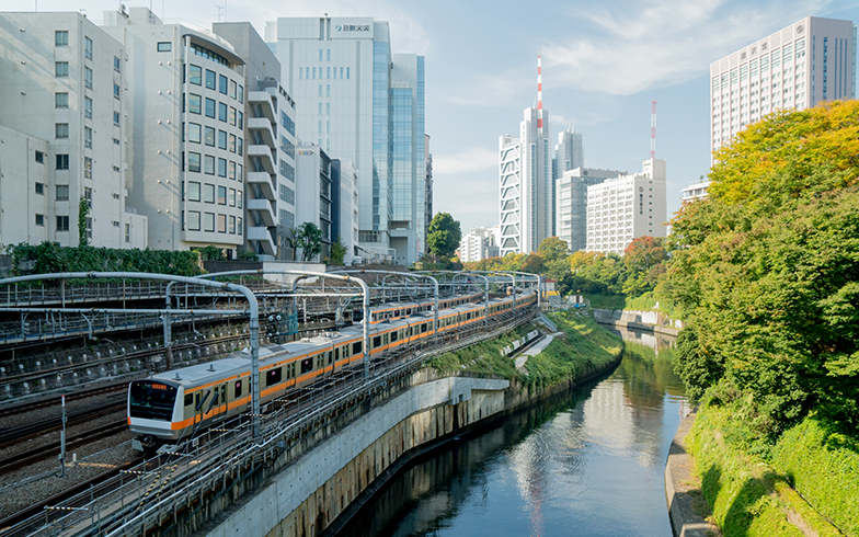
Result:
<svg viewBox="0 0 859 537"><path fill-rule="evenodd" d="M683 83L766 35L761 28L777 31L828 3L651 0L579 7L574 16L599 35L543 47L543 77L552 85L616 95Z"/></svg>

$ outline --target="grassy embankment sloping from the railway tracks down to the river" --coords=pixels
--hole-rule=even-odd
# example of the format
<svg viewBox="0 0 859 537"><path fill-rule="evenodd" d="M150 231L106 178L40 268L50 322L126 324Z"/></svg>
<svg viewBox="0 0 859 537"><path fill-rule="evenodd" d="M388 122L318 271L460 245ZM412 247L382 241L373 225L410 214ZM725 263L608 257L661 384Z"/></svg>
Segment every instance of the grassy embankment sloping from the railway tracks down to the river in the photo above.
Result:
<svg viewBox="0 0 859 537"><path fill-rule="evenodd" d="M591 317L569 310L548 316L566 336L556 338L540 354L528 358L527 375L516 369L513 359L501 350L534 330L526 325L494 340L484 341L456 353L430 361L440 372L470 370L494 373L526 386L547 388L568 378L577 378L610 364L622 349L620 338L597 324Z"/></svg>

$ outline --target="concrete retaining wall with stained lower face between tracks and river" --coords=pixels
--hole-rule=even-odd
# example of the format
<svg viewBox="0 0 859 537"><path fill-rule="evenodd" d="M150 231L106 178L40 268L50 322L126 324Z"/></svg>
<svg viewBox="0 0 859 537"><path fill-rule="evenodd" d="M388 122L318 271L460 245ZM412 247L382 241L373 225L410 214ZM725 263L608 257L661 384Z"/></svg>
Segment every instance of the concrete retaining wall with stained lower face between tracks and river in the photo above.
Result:
<svg viewBox="0 0 859 537"><path fill-rule="evenodd" d="M208 535L319 535L403 453L501 413L508 386L448 377L409 388L274 476Z"/></svg>

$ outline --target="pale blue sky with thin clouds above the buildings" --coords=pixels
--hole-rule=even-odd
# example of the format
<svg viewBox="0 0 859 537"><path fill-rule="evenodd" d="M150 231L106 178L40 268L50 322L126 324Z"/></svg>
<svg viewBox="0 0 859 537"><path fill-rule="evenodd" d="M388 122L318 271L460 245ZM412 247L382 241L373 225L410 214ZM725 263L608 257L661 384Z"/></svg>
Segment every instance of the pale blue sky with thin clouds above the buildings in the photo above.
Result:
<svg viewBox="0 0 859 537"><path fill-rule="evenodd" d="M656 158L667 161L668 217L680 190L706 175L710 64L804 16L859 22L846 0L128 0L205 28L250 21L260 35L278 16L389 21L393 53L426 57L426 133L434 210L463 233L499 222L499 137L516 136L537 101L553 142L574 123L585 165L641 171L657 102ZM114 0L3 0L3 11L79 9L96 24ZM336 155L332 155L336 158Z"/></svg>

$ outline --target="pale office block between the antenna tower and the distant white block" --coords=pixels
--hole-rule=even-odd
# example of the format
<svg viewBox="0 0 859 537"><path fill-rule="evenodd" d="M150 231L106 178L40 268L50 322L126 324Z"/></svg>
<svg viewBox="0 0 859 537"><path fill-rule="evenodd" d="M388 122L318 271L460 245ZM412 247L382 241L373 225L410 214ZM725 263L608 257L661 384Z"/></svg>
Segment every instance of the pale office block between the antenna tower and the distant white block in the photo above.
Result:
<svg viewBox="0 0 859 537"><path fill-rule="evenodd" d="M554 181L556 236L566 242L571 252L587 247L587 187L623 174L620 170L575 168Z"/></svg>

